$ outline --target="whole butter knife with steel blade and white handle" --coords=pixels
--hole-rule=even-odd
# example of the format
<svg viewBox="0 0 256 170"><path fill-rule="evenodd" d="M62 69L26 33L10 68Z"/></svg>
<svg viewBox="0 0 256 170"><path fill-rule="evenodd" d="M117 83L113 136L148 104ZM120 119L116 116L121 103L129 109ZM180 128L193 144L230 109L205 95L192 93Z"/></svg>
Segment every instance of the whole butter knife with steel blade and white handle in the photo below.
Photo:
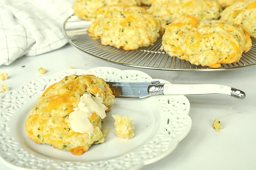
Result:
<svg viewBox="0 0 256 170"><path fill-rule="evenodd" d="M240 100L245 98L245 92L234 87L220 84L171 84L152 82L106 82L113 91L115 97L139 97L150 95L203 95L225 94Z"/></svg>

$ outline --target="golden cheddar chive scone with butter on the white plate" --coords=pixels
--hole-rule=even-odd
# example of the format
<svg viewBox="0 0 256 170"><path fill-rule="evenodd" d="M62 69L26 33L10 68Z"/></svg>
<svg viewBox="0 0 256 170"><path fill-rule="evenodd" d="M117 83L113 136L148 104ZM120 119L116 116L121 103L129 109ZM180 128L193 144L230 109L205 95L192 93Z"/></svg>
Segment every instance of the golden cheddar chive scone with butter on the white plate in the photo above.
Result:
<svg viewBox="0 0 256 170"><path fill-rule="evenodd" d="M82 97L90 99L91 102L85 102ZM60 82L48 87L29 112L25 123L28 138L39 144L68 150L74 155L86 152L92 144L104 142L107 130L101 131L101 115L93 109L87 111L93 101L98 102L99 106L102 104L104 112L105 109L109 111L111 104L114 104L112 91L103 79L93 75L64 77ZM73 119L69 118L75 112L74 109L87 113L89 123L86 125L92 127L92 132L75 132L79 131L79 127L73 129L71 122L73 119L79 119L76 115L73 115Z"/></svg>

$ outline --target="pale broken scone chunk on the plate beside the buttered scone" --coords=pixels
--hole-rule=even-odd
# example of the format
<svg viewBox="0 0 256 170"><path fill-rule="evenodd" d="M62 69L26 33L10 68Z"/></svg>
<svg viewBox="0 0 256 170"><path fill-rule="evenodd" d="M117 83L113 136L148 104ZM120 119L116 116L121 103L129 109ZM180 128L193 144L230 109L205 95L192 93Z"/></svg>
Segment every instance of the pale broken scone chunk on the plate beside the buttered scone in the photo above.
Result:
<svg viewBox="0 0 256 170"><path fill-rule="evenodd" d="M120 138L131 139L134 137L134 122L132 118L126 116L112 115L115 119L115 132Z"/></svg>

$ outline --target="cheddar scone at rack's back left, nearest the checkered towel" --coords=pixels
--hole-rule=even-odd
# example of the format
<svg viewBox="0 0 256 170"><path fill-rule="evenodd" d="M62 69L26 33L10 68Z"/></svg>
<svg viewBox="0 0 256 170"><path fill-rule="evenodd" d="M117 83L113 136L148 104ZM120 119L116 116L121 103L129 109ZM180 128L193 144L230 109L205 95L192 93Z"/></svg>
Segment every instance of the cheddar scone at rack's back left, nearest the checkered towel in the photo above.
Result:
<svg viewBox="0 0 256 170"><path fill-rule="evenodd" d="M91 21L95 12L106 5L141 5L141 0L75 0L73 3L74 14L86 21Z"/></svg>

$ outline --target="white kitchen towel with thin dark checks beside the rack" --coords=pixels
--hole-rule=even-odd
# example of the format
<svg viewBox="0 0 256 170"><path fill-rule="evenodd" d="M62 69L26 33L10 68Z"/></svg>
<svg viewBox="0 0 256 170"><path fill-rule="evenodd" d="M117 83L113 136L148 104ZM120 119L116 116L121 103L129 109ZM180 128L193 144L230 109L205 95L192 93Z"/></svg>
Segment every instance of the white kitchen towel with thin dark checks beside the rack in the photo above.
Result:
<svg viewBox="0 0 256 170"><path fill-rule="evenodd" d="M0 0L0 65L64 46L70 0Z"/></svg>

